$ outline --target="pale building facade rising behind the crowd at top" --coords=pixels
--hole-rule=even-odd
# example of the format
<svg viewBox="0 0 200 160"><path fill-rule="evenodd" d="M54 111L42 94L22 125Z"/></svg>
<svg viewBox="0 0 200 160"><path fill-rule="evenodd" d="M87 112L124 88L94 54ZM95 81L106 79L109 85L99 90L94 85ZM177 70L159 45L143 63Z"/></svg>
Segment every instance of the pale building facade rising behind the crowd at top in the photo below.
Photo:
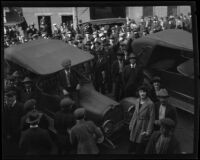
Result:
<svg viewBox="0 0 200 160"><path fill-rule="evenodd" d="M40 19L45 16L49 23L60 25L62 22L73 23L76 28L78 23L101 18L129 17L136 22L142 16L165 17L169 15L187 15L191 13L190 6L141 6L141 7L24 7L23 15L28 24L32 22L39 28Z"/></svg>

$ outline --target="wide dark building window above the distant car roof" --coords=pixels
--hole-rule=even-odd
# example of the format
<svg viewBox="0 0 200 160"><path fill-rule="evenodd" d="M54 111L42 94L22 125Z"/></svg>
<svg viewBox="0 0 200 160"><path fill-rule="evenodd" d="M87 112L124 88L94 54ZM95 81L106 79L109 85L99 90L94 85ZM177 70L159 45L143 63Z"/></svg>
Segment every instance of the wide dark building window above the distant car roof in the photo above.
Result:
<svg viewBox="0 0 200 160"><path fill-rule="evenodd" d="M125 7L91 7L91 19L104 19L104 18L125 18Z"/></svg>

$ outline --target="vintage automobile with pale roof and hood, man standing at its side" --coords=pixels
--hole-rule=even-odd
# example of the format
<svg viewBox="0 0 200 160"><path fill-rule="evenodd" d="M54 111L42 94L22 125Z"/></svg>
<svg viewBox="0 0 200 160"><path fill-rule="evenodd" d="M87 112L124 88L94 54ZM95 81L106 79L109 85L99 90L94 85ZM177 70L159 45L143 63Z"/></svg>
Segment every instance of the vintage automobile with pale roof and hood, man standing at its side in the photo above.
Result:
<svg viewBox="0 0 200 160"><path fill-rule="evenodd" d="M95 91L83 74L82 64L92 60L93 55L60 40L38 39L6 48L4 56L11 69L14 65L14 69L22 70L35 81L39 94L38 106L47 113L51 121L50 130L55 133L53 119L61 99L56 82L65 58L71 59L72 68L81 83L79 103L86 109L86 118L100 126L105 138L111 142L109 139L115 138L113 135L124 124L124 114L118 102Z"/></svg>

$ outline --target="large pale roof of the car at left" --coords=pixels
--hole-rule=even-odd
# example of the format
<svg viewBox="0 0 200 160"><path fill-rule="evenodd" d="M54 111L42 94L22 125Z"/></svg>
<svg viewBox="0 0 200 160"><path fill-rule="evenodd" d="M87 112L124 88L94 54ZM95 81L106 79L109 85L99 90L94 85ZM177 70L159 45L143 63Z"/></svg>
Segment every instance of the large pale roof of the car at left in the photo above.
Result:
<svg viewBox="0 0 200 160"><path fill-rule="evenodd" d="M38 39L6 48L4 58L33 73L46 75L62 70L64 59L71 59L75 66L93 59L93 55L61 40Z"/></svg>

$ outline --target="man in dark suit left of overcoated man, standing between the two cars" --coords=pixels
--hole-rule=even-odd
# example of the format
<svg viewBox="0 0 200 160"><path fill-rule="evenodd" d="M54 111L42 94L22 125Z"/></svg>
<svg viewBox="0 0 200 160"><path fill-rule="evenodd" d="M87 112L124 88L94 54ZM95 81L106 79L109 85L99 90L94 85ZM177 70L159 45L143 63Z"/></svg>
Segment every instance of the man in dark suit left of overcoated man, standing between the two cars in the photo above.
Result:
<svg viewBox="0 0 200 160"><path fill-rule="evenodd" d="M122 98L123 81L122 71L125 67L124 54L120 51L117 52L117 60L112 64L111 73L114 82L114 97L117 101Z"/></svg>

